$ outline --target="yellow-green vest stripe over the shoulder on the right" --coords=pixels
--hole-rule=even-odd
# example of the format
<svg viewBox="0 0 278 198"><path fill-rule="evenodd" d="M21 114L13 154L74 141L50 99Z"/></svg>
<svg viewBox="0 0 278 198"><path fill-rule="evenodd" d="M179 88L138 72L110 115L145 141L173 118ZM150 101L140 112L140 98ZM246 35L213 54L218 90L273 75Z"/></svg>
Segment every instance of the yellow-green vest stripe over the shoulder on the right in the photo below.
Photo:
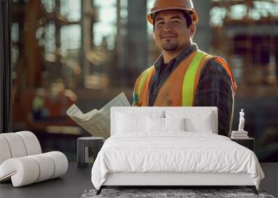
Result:
<svg viewBox="0 0 278 198"><path fill-rule="evenodd" d="M197 51L183 78L182 106L193 106L195 76L202 58L206 56L203 51Z"/></svg>

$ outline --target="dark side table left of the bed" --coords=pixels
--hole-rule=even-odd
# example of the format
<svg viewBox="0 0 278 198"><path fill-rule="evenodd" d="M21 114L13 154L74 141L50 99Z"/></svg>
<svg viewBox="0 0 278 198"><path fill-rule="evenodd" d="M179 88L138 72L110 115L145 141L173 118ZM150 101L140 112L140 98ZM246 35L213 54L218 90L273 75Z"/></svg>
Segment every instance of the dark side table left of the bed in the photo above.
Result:
<svg viewBox="0 0 278 198"><path fill-rule="evenodd" d="M97 158L102 145L104 145L104 138L99 137L84 137L77 138L77 167L87 167L89 163L89 147L93 151L94 160Z"/></svg>

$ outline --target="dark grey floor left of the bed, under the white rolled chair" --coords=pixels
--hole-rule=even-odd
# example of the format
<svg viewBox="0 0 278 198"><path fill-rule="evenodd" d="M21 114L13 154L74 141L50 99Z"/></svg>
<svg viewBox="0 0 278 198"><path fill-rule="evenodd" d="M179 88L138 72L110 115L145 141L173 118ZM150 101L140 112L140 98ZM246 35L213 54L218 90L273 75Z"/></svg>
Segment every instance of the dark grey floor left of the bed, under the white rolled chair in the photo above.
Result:
<svg viewBox="0 0 278 198"><path fill-rule="evenodd" d="M0 183L0 197L81 197L86 189L93 188L90 179L92 165L80 169L69 163L67 173L60 178L13 188L11 181Z"/></svg>

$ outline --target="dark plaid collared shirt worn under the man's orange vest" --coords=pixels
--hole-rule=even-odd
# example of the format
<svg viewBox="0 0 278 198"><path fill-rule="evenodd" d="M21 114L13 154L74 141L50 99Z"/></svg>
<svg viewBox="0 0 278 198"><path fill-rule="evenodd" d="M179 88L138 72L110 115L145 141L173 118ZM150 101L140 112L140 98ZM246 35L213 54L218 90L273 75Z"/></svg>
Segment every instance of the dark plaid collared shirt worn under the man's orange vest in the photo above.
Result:
<svg viewBox="0 0 278 198"><path fill-rule="evenodd" d="M163 56L160 56L154 67L156 73L152 78L149 88L149 106L154 106L154 101L159 89L170 76L171 72L187 58L193 51L197 50L197 45L193 44L189 49L184 50L170 61L163 63ZM231 87L231 79L227 71L216 60L208 60L203 67L199 84L195 92L193 106L217 106L218 107L218 134L229 136L234 110L234 97Z"/></svg>

